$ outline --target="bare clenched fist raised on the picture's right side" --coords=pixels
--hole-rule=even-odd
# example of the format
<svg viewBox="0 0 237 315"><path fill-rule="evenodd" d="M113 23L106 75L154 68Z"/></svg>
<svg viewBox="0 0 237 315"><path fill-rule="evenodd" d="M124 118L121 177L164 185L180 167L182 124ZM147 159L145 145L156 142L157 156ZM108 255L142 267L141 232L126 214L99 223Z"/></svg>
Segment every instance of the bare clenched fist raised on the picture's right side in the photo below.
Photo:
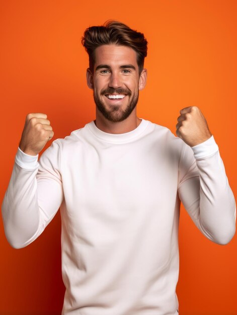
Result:
<svg viewBox="0 0 237 315"><path fill-rule="evenodd" d="M205 117L197 106L181 109L176 125L176 134L190 146L200 144L209 139L212 134Z"/></svg>

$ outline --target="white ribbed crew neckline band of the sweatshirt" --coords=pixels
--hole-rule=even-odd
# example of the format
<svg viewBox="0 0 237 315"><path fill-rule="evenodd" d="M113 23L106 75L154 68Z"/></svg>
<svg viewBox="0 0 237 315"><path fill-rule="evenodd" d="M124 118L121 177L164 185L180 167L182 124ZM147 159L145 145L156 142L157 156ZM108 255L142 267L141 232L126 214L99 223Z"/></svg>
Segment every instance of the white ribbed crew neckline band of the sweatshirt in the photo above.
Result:
<svg viewBox="0 0 237 315"><path fill-rule="evenodd" d="M89 122L87 126L90 129L90 131L97 138L100 138L101 140L104 140L106 142L111 142L111 143L125 143L139 136L147 127L149 121L142 118L139 118L139 119L141 119L140 124L135 129L129 132L125 132L125 133L108 133L108 132L102 131L96 126L94 120Z"/></svg>

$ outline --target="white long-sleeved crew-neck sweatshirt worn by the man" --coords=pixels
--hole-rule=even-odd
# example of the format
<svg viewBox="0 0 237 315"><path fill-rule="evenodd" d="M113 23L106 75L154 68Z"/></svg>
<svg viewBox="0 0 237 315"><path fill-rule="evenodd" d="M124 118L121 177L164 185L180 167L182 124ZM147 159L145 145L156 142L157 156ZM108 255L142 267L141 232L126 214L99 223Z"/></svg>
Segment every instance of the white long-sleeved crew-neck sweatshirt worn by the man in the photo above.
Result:
<svg viewBox="0 0 237 315"><path fill-rule="evenodd" d="M37 157L18 149L4 226L9 243L25 247L60 207L63 315L177 315L180 200L211 241L234 235L213 136L190 147L148 120L123 134L91 121Z"/></svg>

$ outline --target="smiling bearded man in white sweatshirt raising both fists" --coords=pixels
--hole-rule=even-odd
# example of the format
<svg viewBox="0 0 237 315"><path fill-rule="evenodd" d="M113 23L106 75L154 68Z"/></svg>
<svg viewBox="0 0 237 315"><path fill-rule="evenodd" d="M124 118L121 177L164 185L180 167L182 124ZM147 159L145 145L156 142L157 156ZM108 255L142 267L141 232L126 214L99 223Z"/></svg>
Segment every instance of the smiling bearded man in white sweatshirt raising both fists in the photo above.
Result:
<svg viewBox="0 0 237 315"><path fill-rule="evenodd" d="M2 211L15 248L32 243L60 206L62 314L175 315L180 201L211 241L235 232L235 200L198 107L180 111L177 135L136 116L147 42L110 21L90 27L87 83L96 120L57 139L29 114Z"/></svg>

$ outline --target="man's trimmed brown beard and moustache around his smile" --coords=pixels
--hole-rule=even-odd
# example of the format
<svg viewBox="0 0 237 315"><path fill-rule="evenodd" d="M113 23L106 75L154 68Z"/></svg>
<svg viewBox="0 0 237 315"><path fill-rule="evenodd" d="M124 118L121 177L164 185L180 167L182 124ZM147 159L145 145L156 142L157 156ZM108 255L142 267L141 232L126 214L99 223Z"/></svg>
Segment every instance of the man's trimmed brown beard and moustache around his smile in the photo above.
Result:
<svg viewBox="0 0 237 315"><path fill-rule="evenodd" d="M124 90L121 88L119 89L108 88L106 90L101 91L101 96L106 94L125 94L129 98L132 95L130 90ZM105 103L99 98L95 90L93 91L93 96L98 110L106 119L108 119L111 122L120 122L126 119L136 107L139 97L139 90L137 89L137 93L134 93L133 97L129 100L124 110L121 109L121 105L113 105L111 106L111 110L108 110L106 108Z"/></svg>

